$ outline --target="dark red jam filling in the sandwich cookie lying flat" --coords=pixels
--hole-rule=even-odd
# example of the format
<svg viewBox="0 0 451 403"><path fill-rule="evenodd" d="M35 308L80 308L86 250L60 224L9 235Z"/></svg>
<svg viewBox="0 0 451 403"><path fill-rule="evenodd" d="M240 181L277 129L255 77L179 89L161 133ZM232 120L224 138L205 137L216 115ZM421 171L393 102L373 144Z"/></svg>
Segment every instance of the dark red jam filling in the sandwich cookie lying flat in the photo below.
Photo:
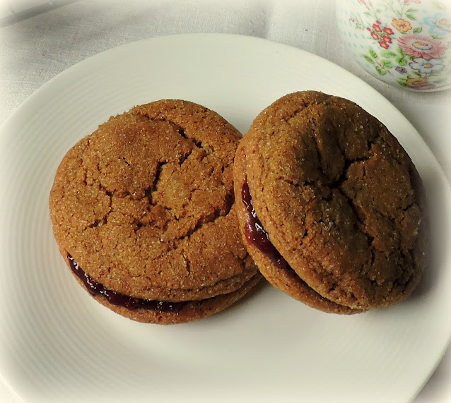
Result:
<svg viewBox="0 0 451 403"><path fill-rule="evenodd" d="M69 259L69 265L71 266L72 272L81 279L89 293L92 296L104 296L109 303L112 303L112 305L124 306L131 310L151 309L158 312L177 313L180 312L186 304L186 302L151 301L149 299L134 298L132 296L119 294L119 292L107 289L102 284L96 282L95 279L89 277L69 253L67 254L67 258Z"/></svg>

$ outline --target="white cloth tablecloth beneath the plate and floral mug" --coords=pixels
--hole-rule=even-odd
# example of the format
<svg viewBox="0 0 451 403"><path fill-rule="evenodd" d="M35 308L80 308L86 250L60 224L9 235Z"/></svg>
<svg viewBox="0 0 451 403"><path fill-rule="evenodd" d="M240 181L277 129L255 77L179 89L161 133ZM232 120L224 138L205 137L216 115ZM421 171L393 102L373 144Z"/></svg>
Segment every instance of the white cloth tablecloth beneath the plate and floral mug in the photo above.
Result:
<svg viewBox="0 0 451 403"><path fill-rule="evenodd" d="M293 45L362 78L411 121L451 179L451 91L405 92L365 73L340 41L332 0L60 0L42 7L44 3L0 0L0 23L6 18L0 28L0 124L57 73L106 49L160 35L228 32ZM450 402L450 380L448 349L415 402ZM18 401L0 380L0 402Z"/></svg>

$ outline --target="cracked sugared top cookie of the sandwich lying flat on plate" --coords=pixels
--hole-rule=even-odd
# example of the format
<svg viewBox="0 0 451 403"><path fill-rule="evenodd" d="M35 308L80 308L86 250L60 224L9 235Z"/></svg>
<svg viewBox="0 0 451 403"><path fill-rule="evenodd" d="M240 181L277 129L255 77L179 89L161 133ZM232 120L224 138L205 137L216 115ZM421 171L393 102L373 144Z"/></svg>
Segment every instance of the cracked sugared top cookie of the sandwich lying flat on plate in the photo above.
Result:
<svg viewBox="0 0 451 403"><path fill-rule="evenodd" d="M227 294L257 269L233 208L240 133L215 112L161 100L112 116L64 156L49 206L61 253L121 294Z"/></svg>

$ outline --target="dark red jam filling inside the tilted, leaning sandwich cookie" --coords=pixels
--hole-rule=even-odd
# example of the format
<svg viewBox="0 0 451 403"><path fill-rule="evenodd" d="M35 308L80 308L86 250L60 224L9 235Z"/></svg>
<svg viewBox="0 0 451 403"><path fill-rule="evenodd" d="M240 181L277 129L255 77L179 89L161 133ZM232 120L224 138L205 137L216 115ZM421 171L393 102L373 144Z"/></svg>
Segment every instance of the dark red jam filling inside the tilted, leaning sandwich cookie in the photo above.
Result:
<svg viewBox="0 0 451 403"><path fill-rule="evenodd" d="M250 194L249 185L247 181L242 185L241 190L242 203L246 206L246 224L245 235L247 241L252 243L256 248L264 253L272 263L281 269L288 269L289 265L282 255L277 251L274 245L269 241L268 233L264 230L262 222L257 217L257 213L252 205L252 196Z"/></svg>

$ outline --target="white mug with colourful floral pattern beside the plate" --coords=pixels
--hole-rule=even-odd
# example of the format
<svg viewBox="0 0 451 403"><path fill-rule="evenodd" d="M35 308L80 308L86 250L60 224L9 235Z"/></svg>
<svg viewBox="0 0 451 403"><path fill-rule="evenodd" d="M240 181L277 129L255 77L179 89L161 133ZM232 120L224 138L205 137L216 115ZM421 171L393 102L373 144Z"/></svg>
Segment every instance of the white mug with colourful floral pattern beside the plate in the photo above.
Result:
<svg viewBox="0 0 451 403"><path fill-rule="evenodd" d="M368 73L407 90L451 88L451 0L336 0L336 17Z"/></svg>

